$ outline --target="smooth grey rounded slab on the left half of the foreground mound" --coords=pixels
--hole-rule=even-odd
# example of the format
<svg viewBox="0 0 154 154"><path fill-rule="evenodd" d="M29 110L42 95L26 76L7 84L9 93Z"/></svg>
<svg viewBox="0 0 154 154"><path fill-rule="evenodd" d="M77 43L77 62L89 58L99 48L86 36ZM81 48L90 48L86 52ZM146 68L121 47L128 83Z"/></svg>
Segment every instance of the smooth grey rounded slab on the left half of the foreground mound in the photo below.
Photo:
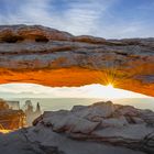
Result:
<svg viewBox="0 0 154 154"><path fill-rule="evenodd" d="M92 122L67 112L54 112L52 117L43 118L44 125L52 127L56 132L90 133L99 122Z"/></svg>

